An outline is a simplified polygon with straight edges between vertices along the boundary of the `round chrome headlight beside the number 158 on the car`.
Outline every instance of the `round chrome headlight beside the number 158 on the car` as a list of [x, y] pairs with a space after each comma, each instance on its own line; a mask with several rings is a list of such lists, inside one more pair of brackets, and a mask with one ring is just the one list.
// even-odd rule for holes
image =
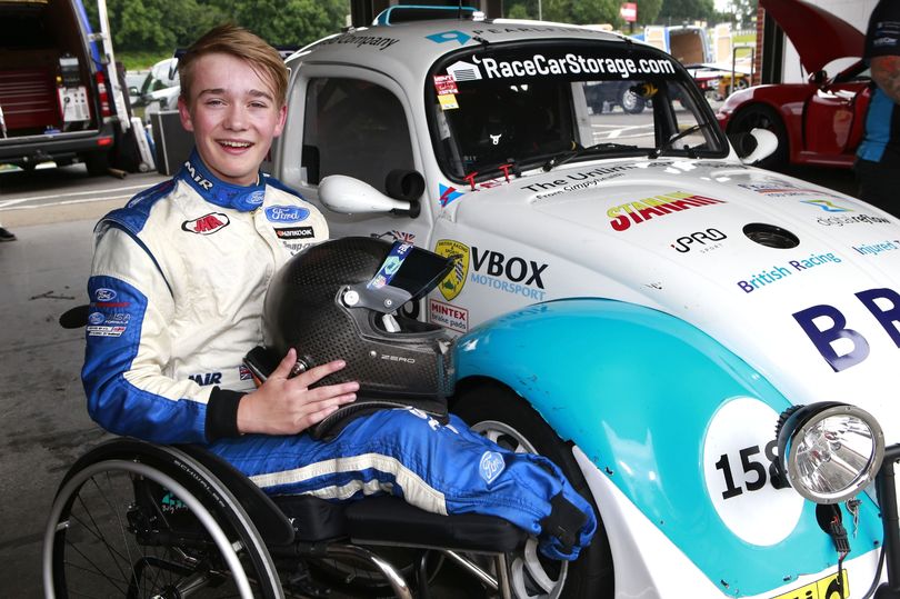
[[884, 436], [876, 419], [837, 401], [789, 408], [776, 435], [781, 473], [816, 503], [839, 503], [857, 495], [884, 457]]

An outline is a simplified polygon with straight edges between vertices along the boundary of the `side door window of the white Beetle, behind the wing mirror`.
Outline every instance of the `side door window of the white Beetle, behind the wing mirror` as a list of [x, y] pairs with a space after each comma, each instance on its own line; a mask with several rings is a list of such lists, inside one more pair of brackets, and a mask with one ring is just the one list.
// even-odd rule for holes
[[386, 191], [394, 169], [414, 168], [403, 104], [390, 91], [359, 79], [312, 79], [307, 87], [301, 167], [318, 184], [346, 174]]

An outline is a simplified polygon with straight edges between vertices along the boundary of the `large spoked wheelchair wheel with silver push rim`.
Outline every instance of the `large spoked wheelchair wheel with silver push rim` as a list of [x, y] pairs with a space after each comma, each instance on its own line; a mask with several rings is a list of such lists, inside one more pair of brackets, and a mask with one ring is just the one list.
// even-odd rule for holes
[[282, 596], [259, 533], [218, 479], [174, 448], [116, 443], [79, 460], [57, 493], [48, 597]]

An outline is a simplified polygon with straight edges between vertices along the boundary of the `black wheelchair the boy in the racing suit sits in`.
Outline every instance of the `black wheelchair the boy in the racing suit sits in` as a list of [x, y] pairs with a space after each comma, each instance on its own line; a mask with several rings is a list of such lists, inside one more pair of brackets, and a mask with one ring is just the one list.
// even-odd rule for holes
[[117, 438], [64, 476], [42, 571], [47, 597], [427, 599], [449, 568], [453, 597], [511, 599], [546, 596], [554, 568], [564, 576], [536, 549], [501, 518], [390, 496], [269, 497], [200, 446]]

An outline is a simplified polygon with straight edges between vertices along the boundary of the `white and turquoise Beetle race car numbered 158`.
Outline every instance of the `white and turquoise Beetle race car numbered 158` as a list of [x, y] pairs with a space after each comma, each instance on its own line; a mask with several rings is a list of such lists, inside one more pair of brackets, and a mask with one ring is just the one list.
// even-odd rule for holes
[[[662, 51], [399, 9], [288, 59], [272, 170], [333, 237], [458, 257], [403, 308], [459, 333], [451, 409], [602, 521], [572, 563], [526, 551], [517, 596], [897, 589], [898, 222], [749, 166], [774, 136], [729, 143]], [[590, 110], [622, 81], [646, 110]]]

